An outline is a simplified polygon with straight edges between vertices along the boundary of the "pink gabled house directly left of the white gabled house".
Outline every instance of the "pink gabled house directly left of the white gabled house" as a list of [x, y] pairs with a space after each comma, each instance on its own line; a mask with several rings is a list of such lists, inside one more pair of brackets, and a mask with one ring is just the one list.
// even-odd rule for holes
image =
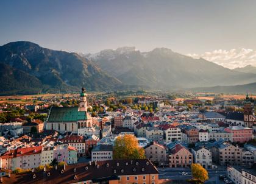
[[193, 163], [193, 155], [180, 143], [168, 144], [169, 167], [170, 168], [190, 168]]

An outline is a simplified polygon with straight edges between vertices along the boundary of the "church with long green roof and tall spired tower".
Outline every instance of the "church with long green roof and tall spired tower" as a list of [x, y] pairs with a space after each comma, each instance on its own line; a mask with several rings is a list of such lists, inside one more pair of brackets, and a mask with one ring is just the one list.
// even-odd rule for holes
[[60, 133], [77, 133], [78, 129], [92, 126], [91, 116], [87, 112], [84, 85], [80, 93], [79, 107], [52, 107], [46, 121], [46, 130], [56, 130]]

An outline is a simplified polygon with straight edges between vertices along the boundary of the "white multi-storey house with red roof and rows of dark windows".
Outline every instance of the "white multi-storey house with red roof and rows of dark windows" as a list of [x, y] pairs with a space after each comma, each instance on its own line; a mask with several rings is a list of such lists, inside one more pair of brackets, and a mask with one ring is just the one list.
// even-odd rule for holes
[[172, 141], [182, 140], [182, 132], [179, 127], [172, 126], [171, 124], [160, 124], [158, 128], [163, 130], [165, 145]]

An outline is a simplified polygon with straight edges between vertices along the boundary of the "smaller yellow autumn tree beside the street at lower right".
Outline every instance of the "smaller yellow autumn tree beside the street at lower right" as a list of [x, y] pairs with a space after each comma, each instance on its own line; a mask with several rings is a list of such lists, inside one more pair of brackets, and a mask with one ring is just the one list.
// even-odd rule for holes
[[197, 163], [191, 165], [191, 173], [196, 183], [204, 183], [209, 179], [206, 169]]

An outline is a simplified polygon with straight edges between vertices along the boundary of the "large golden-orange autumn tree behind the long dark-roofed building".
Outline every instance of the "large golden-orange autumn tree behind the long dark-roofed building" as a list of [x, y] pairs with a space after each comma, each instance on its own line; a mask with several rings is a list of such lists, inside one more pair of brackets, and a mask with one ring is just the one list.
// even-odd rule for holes
[[138, 141], [134, 135], [126, 134], [118, 136], [115, 140], [113, 150], [114, 159], [142, 159], [145, 157], [145, 151], [139, 147]]

